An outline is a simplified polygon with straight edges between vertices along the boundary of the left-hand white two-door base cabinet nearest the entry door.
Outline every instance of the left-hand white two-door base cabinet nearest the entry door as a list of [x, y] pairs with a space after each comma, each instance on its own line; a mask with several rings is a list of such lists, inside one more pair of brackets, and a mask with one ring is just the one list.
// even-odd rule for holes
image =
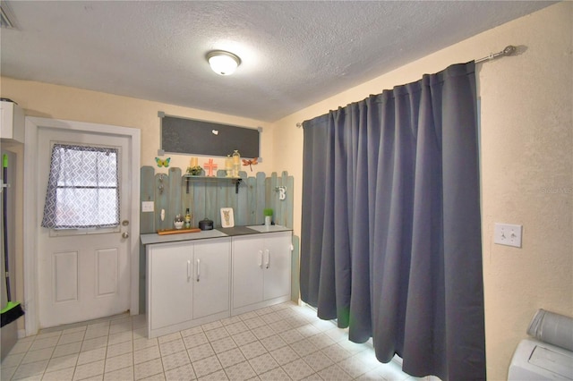
[[230, 242], [147, 246], [148, 337], [229, 316]]

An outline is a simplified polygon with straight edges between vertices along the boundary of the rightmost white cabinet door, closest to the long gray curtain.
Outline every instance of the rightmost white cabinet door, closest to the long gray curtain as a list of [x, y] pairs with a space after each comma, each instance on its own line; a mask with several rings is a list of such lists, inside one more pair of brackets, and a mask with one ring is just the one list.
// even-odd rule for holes
[[264, 239], [265, 301], [290, 294], [291, 233], [266, 234]]

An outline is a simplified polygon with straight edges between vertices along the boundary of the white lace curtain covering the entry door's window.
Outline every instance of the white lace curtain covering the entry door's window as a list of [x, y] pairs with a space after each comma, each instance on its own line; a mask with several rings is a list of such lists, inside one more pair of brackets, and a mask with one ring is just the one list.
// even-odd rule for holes
[[119, 225], [118, 149], [55, 144], [42, 226], [51, 229]]

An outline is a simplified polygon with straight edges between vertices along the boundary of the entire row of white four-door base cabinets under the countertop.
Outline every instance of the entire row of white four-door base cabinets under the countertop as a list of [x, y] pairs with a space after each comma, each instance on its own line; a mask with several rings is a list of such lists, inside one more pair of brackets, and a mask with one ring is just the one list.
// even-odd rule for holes
[[148, 337], [290, 300], [292, 232], [146, 244]]

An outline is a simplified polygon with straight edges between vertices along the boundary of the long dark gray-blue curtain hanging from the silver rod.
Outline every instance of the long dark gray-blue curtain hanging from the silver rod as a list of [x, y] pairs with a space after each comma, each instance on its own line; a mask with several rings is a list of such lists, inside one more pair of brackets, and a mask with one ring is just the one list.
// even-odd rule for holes
[[475, 63], [304, 126], [301, 295], [410, 375], [485, 378]]

